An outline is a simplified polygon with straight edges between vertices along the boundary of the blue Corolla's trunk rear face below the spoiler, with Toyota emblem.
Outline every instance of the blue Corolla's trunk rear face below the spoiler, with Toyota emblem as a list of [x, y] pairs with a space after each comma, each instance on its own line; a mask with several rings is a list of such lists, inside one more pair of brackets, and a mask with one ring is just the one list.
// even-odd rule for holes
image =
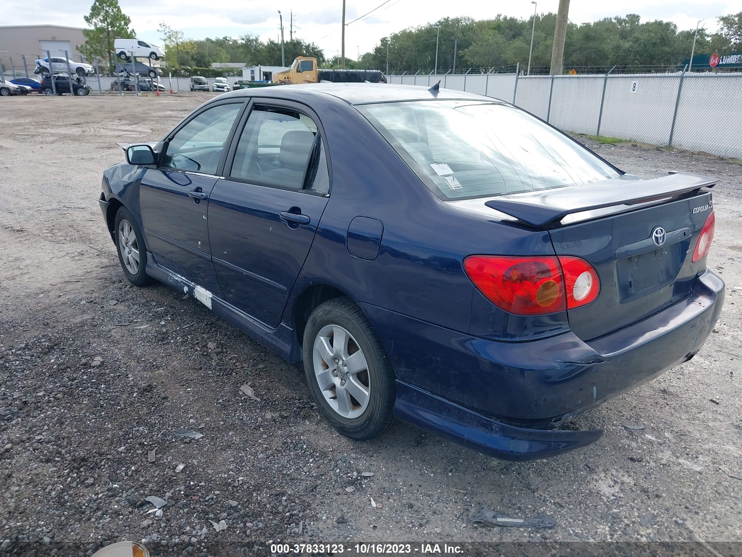
[[600, 278], [597, 299], [568, 310], [574, 333], [594, 339], [687, 296], [705, 265], [692, 254], [711, 211], [704, 193], [551, 230], [558, 255], [585, 259]]

